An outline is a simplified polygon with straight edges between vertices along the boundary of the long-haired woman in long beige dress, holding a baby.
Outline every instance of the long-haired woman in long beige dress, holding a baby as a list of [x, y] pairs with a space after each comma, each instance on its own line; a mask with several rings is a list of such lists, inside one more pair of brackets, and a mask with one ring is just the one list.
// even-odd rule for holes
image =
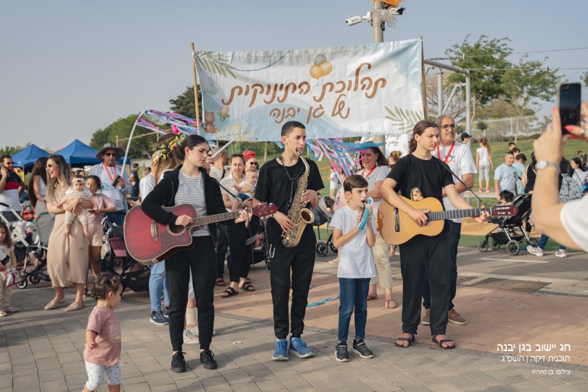
[[71, 170], [61, 155], [51, 155], [47, 159], [47, 195], [45, 201], [49, 213], [55, 214], [55, 225], [49, 236], [47, 250], [47, 272], [51, 277], [51, 284], [55, 289], [55, 297], [45, 306], [51, 310], [65, 302], [64, 287], [75, 286], [76, 296], [65, 311], [79, 310], [85, 307], [83, 303], [83, 286], [88, 272], [89, 240], [83, 234], [82, 224], [74, 219], [65, 232], [65, 211], [81, 212], [81, 208], [90, 209], [93, 204], [89, 200], [69, 201], [61, 208], [57, 207], [58, 200], [63, 200], [65, 191], [71, 186]]

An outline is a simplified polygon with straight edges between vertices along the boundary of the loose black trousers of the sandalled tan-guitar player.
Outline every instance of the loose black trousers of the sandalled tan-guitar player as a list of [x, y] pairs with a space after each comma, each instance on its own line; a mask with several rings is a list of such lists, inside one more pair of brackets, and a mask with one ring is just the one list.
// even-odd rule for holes
[[445, 334], [449, 311], [449, 243], [450, 233], [444, 231], [436, 237], [419, 234], [400, 245], [403, 333], [416, 333], [419, 326], [426, 268], [431, 289], [431, 333]]

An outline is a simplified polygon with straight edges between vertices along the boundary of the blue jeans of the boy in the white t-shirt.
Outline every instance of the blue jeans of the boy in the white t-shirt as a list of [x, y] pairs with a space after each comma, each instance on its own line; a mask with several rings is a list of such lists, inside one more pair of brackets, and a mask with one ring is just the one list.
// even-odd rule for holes
[[368, 319], [369, 278], [339, 278], [339, 341], [347, 341], [349, 322], [355, 308], [355, 339], [365, 337], [366, 320]]

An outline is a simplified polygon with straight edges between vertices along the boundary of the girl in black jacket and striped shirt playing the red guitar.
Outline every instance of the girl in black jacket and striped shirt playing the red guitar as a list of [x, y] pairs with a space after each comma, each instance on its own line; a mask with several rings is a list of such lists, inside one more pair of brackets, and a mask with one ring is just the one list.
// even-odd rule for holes
[[[183, 165], [165, 173], [163, 179], [141, 203], [142, 211], [155, 222], [169, 225], [168, 227], [171, 230], [183, 229], [181, 226], [192, 227], [195, 216], [186, 213], [178, 216], [169, 209], [163, 209], [162, 206], [181, 207], [179, 205], [187, 203], [195, 208], [200, 218], [212, 214], [223, 214], [231, 217], [236, 215], [236, 213], [233, 215], [231, 215], [232, 213], [227, 213], [222, 195], [220, 195], [220, 187], [213, 182], [203, 167], [205, 166], [206, 158], [208, 158], [209, 150], [206, 139], [198, 135], [189, 135], [179, 148], [182, 149], [181, 155], [185, 155]], [[233, 211], [238, 207], [238, 203], [235, 202]], [[129, 253], [134, 257], [135, 255], [133, 255], [129, 243], [140, 242], [141, 237], [143, 237], [143, 242], [147, 240], [154, 243], [159, 236], [165, 234], [165, 229], [158, 232], [158, 226], [155, 226], [155, 224], [149, 225], [149, 223], [136, 225], [136, 227], [132, 228], [132, 221], [129, 220], [133, 216], [131, 212], [129, 212], [127, 220], [125, 220], [125, 239], [127, 247], [131, 251]], [[235, 223], [248, 222], [249, 220], [248, 213], [245, 210], [241, 210], [236, 216]], [[221, 219], [216, 219], [216, 221], [221, 222]], [[215, 222], [215, 220], [211, 219], [210, 222]], [[230, 224], [233, 221], [223, 220], [222, 222]], [[149, 233], [139, 233], [141, 227], [144, 226], [152, 227], [153, 239], [150, 238]], [[131, 236], [133, 232], [135, 236]], [[149, 247], [148, 242], [143, 244], [143, 250]], [[216, 263], [213, 261], [216, 260], [215, 242], [216, 225], [215, 223], [208, 223], [208, 225], [199, 226], [199, 229], [191, 233], [191, 241], [188, 246], [184, 246], [182, 250], [173, 254], [168, 252], [161, 254], [160, 256], [162, 257], [158, 257], [166, 260], [165, 273], [168, 279], [170, 297], [169, 336], [173, 350], [172, 371], [175, 372], [186, 371], [186, 362], [182, 352], [182, 333], [186, 304], [188, 302], [189, 272], [192, 272], [198, 307], [200, 360], [207, 369], [217, 367], [216, 361], [213, 359], [214, 354], [210, 350], [215, 319], [215, 307], [213, 305], [216, 277]], [[165, 244], [160, 244], [160, 246], [163, 247]], [[139, 257], [137, 260], [141, 259]]]

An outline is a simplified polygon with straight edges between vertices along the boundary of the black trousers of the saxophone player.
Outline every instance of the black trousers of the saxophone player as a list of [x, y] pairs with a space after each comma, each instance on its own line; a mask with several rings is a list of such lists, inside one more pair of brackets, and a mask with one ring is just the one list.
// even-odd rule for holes
[[[281, 242], [272, 244], [271, 250], [275, 250], [270, 270], [273, 331], [278, 339], [288, 337], [290, 284], [292, 285], [292, 307], [290, 308], [292, 328], [290, 331], [293, 334], [302, 334], [304, 330], [308, 290], [315, 267], [315, 246], [315, 238], [300, 241], [298, 246], [293, 248], [285, 247]], [[291, 282], [290, 268], [292, 269]]]

